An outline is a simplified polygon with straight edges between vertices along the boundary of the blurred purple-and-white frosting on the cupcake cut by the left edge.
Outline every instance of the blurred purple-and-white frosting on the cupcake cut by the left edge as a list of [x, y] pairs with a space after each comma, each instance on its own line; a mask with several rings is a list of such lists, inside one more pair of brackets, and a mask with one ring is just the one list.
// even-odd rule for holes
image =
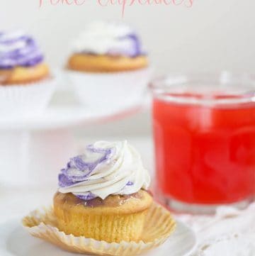
[[0, 69], [33, 67], [42, 60], [42, 52], [30, 35], [0, 32]]

